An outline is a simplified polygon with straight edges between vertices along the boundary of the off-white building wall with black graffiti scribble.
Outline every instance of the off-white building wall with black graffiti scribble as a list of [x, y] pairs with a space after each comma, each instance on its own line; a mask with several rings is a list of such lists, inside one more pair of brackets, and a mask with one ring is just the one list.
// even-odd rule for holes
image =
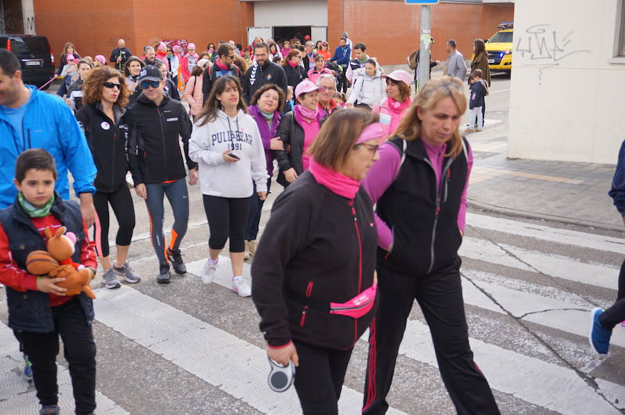
[[624, 3], [516, 3], [510, 158], [616, 162], [625, 139]]

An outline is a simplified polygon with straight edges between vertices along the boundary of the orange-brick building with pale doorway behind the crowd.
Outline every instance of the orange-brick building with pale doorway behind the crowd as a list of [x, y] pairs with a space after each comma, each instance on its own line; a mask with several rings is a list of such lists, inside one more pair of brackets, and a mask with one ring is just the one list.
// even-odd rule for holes
[[[249, 44], [256, 33], [276, 39], [308, 34], [334, 49], [347, 31], [383, 65], [398, 65], [418, 49], [421, 15], [420, 6], [403, 0], [28, 1], [34, 1], [37, 33], [49, 37], [55, 53], [73, 42], [79, 53], [91, 56], [108, 56], [120, 37], [141, 55], [143, 46], [162, 39], [194, 42], [202, 51], [217, 40]], [[468, 58], [476, 37], [490, 37], [497, 24], [512, 20], [512, 3], [450, 0], [431, 6], [433, 59], [447, 58], [444, 43], [451, 38]]]

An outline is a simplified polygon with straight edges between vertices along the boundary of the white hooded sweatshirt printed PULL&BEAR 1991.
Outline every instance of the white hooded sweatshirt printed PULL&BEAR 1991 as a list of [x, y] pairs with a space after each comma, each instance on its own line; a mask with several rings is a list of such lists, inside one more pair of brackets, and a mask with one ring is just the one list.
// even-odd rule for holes
[[[201, 122], [201, 121], [199, 121]], [[256, 121], [239, 110], [233, 118], [219, 110], [217, 118], [203, 126], [193, 126], [189, 157], [199, 164], [202, 194], [246, 198], [253, 192], [267, 192], [265, 149]], [[222, 153], [231, 149], [238, 162], [226, 162]]]

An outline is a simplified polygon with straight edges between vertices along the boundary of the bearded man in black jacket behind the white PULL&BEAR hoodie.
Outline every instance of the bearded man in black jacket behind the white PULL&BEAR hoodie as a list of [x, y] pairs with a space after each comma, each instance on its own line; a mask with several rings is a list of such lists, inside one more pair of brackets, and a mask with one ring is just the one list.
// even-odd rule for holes
[[243, 99], [249, 105], [249, 100], [266, 83], [274, 83], [281, 87], [287, 95], [287, 78], [284, 69], [269, 60], [269, 46], [260, 42], [254, 46], [255, 63], [247, 70], [243, 81]]

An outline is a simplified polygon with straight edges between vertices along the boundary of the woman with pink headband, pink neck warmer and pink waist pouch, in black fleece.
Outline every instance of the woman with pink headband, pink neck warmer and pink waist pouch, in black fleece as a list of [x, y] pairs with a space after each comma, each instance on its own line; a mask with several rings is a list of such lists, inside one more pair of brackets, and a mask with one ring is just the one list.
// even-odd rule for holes
[[328, 118], [310, 168], [276, 199], [251, 268], [267, 357], [297, 366], [304, 415], [338, 414], [353, 345], [376, 309], [376, 225], [360, 180], [378, 160], [377, 121], [357, 109]]

